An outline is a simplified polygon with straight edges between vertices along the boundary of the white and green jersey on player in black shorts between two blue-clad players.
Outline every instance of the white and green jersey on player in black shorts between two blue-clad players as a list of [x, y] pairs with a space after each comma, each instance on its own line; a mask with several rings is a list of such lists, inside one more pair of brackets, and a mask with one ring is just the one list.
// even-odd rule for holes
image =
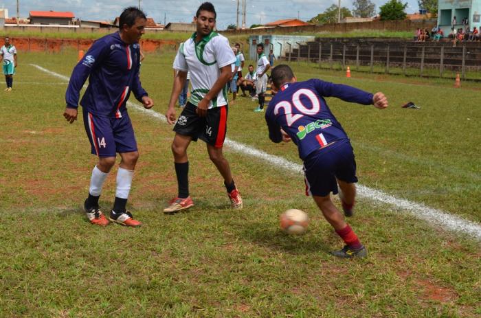
[[[179, 47], [174, 60], [174, 69], [190, 72], [190, 103], [197, 106], [205, 97], [221, 74], [221, 67], [236, 62], [236, 56], [230, 48], [225, 36], [210, 32], [199, 43], [195, 43], [197, 33]], [[219, 91], [216, 98], [212, 98], [209, 109], [227, 105], [227, 88]]]

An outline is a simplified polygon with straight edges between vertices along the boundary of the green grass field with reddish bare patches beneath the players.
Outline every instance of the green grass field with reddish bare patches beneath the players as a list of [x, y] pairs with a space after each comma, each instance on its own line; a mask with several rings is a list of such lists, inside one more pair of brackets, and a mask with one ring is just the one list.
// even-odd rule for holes
[[[165, 113], [172, 54], [148, 55], [142, 84]], [[93, 227], [82, 213], [96, 158], [82, 121], [63, 119], [76, 54], [19, 54], [14, 91], [0, 99], [0, 317], [480, 317], [481, 245], [419, 220], [402, 207], [359, 197], [349, 220], [368, 258], [328, 254], [342, 242], [299, 172], [225, 147], [245, 208], [234, 212], [202, 142], [192, 144], [186, 213], [161, 209], [177, 191], [172, 128], [130, 108], [139, 152], [128, 207], [144, 226]], [[317, 69], [312, 77], [383, 91], [390, 107], [328, 99], [350, 135], [361, 185], [480, 226], [479, 84]], [[133, 98], [131, 101], [135, 102]], [[402, 109], [412, 101], [420, 110]], [[300, 163], [295, 146], [272, 144], [255, 102], [230, 106], [227, 137]], [[100, 204], [115, 194], [114, 169]], [[296, 207], [306, 235], [278, 229]], [[421, 211], [420, 211], [421, 212]]]

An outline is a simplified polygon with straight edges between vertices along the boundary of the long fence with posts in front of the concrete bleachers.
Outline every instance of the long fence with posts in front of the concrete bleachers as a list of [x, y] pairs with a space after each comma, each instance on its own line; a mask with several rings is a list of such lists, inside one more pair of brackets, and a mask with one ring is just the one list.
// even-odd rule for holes
[[322, 68], [405, 76], [451, 77], [481, 80], [480, 43], [309, 43], [291, 49], [289, 61], [318, 63]]

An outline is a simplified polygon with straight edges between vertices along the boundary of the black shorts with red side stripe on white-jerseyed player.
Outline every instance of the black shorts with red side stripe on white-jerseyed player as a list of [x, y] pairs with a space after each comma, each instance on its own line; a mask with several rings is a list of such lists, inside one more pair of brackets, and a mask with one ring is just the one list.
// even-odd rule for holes
[[179, 135], [192, 137], [193, 141], [201, 139], [215, 148], [222, 148], [227, 131], [227, 105], [208, 109], [207, 116], [201, 118], [195, 112], [197, 106], [188, 102], [174, 131]]

